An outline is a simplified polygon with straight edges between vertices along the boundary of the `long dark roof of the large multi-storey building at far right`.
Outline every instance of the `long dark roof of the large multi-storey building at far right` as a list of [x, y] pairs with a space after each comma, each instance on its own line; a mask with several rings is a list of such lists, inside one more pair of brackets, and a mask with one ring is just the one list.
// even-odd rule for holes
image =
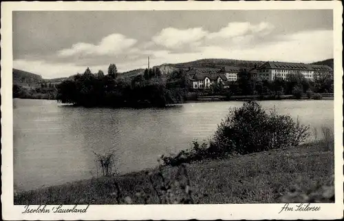
[[309, 65], [305, 63], [279, 62], [267, 61], [266, 63], [257, 67], [257, 69], [292, 69], [292, 70], [332, 70], [326, 65]]

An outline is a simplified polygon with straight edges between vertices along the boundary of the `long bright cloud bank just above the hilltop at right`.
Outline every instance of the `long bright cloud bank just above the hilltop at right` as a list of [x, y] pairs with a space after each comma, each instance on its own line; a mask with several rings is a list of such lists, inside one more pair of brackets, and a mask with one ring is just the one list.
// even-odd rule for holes
[[[251, 61], [290, 61], [311, 63], [333, 58], [332, 30], [312, 30], [277, 36], [273, 43], [244, 45], [236, 48], [216, 45], [201, 48], [208, 58], [241, 59]], [[216, 55], [216, 56], [214, 56]]]

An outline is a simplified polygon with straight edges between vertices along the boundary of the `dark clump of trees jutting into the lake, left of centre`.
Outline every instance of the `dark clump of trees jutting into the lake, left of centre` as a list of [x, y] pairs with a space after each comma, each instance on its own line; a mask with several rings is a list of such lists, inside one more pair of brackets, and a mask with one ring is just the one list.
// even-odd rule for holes
[[[166, 81], [158, 69], [146, 69], [133, 78], [118, 78], [115, 64], [109, 65], [107, 75], [87, 70], [58, 85], [57, 99], [85, 107], [164, 107], [181, 103], [186, 96], [182, 71], [173, 73]], [[184, 79], [185, 76], [184, 76]]]

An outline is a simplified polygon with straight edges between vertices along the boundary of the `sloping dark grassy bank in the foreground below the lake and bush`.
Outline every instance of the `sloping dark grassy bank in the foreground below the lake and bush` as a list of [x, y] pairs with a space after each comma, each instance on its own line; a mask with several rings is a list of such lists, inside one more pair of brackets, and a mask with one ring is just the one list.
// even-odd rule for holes
[[[321, 142], [197, 162], [186, 165], [186, 169], [192, 202], [196, 204], [334, 200], [334, 152], [324, 149]], [[176, 167], [162, 169], [166, 179], [173, 178], [176, 171]], [[24, 191], [14, 196], [14, 204], [158, 204], [162, 179], [157, 174], [158, 169], [153, 169], [148, 175], [140, 171]], [[175, 196], [183, 194], [178, 189], [173, 192]]]

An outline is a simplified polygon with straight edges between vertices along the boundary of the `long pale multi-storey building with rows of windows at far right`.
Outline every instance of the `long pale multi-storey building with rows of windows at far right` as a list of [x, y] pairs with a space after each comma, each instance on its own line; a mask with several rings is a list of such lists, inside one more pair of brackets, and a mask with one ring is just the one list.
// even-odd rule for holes
[[310, 81], [317, 78], [333, 78], [333, 70], [326, 65], [276, 61], [268, 61], [257, 67], [257, 78], [262, 80], [274, 81], [276, 78], [282, 78], [291, 81], [298, 77], [304, 77]]

